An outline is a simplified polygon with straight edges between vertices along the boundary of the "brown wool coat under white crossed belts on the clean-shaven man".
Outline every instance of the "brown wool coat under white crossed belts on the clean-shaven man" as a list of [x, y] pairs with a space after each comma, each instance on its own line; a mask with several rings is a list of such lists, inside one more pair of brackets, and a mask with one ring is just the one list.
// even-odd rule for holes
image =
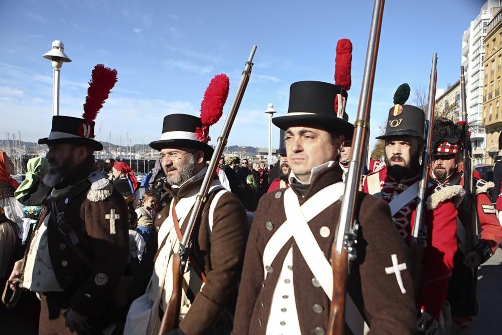
[[[305, 197], [302, 198], [297, 193], [300, 205], [322, 188], [341, 181], [341, 173], [338, 164], [319, 172], [313, 178]], [[316, 327], [326, 329], [330, 300], [321, 287], [313, 286], [314, 276], [294, 239], [286, 243], [271, 264], [273, 269], [278, 270], [269, 273], [264, 281], [262, 260], [265, 246], [286, 220], [284, 191], [285, 189], [273, 191], [260, 199], [247, 242], [234, 318], [235, 335], [266, 333], [274, 289], [291, 244], [293, 283], [301, 332], [313, 333]], [[402, 294], [395, 275], [385, 272], [386, 267], [392, 266], [392, 254], [397, 255], [400, 264], [406, 262], [401, 238], [391, 222], [389, 206], [386, 202], [361, 192], [358, 193], [358, 204], [357, 218], [361, 227], [357, 238], [357, 260], [352, 264], [348, 279], [350, 296], [369, 324], [371, 334], [411, 334], [415, 330], [416, 310], [410, 273], [407, 270], [401, 272], [407, 290], [406, 294]], [[309, 222], [309, 227], [326, 258], [329, 257], [333, 242], [340, 205], [341, 201], [336, 201]], [[272, 231], [266, 228], [267, 221], [272, 222]], [[320, 236], [319, 230], [322, 226], [330, 228], [328, 238]], [[315, 313], [312, 310], [314, 304], [321, 305], [323, 311]], [[351, 332], [346, 330], [345, 333]]]

